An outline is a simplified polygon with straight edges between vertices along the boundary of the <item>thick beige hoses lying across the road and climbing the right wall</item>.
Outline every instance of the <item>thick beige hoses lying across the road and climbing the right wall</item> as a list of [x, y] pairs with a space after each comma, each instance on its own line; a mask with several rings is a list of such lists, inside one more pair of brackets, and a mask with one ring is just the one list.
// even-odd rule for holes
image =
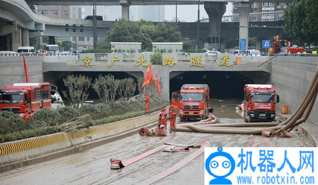
[[[318, 68], [316, 69], [313, 81], [309, 86], [307, 93], [292, 113], [292, 115], [282, 123], [236, 123], [236, 124], [215, 124], [212, 122], [195, 122], [192, 124], [179, 124], [176, 131], [181, 132], [203, 132], [203, 133], [234, 133], [234, 134], [262, 134], [271, 137], [276, 134], [279, 137], [290, 137], [289, 132], [296, 126], [305, 122], [314, 106], [318, 93]], [[306, 113], [305, 113], [306, 112]], [[305, 113], [305, 114], [304, 114]], [[302, 117], [303, 116], [303, 117]], [[204, 120], [205, 121], [205, 120]], [[208, 124], [204, 124], [208, 123]], [[204, 125], [204, 126], [202, 126]], [[246, 128], [246, 127], [264, 127], [264, 128]]]

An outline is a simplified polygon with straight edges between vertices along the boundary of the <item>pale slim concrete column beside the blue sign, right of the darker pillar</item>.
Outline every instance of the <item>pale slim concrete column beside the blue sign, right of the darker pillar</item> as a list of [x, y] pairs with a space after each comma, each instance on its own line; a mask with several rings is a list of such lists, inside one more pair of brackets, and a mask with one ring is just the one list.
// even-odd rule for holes
[[246, 39], [246, 50], [248, 50], [248, 16], [250, 3], [239, 2], [237, 4], [239, 14], [239, 39]]

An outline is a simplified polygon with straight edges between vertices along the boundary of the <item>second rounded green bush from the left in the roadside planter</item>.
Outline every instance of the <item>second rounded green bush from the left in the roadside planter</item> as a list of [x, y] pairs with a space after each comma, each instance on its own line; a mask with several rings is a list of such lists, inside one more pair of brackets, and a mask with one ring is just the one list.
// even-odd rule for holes
[[60, 114], [57, 110], [42, 108], [37, 110], [30, 118], [32, 128], [55, 126], [59, 124]]

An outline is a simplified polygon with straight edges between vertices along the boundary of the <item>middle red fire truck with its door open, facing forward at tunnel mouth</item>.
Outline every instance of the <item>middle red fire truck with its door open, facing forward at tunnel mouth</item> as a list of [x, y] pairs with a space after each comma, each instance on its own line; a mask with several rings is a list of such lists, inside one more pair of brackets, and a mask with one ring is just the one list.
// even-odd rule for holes
[[172, 93], [171, 105], [179, 110], [180, 121], [205, 119], [213, 109], [209, 108], [210, 89], [207, 84], [184, 84], [180, 91]]

